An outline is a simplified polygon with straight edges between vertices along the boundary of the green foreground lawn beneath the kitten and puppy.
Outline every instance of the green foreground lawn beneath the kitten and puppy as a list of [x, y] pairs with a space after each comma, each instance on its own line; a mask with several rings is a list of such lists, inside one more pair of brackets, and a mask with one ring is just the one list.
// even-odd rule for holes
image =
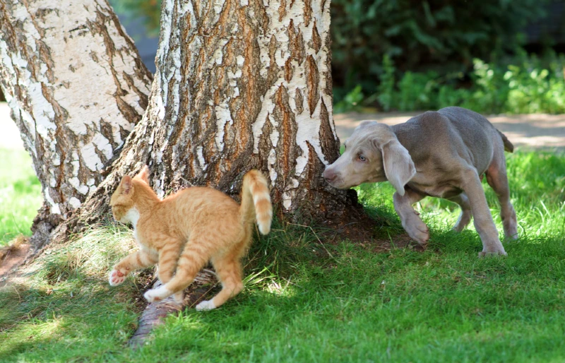
[[[475, 230], [452, 232], [458, 209], [434, 198], [416, 206], [431, 230], [423, 252], [321, 244], [319, 229], [275, 225], [254, 242], [242, 294], [170, 316], [131, 350], [146, 278], [109, 287], [110, 266], [133, 248], [109, 225], [42, 256], [26, 285], [0, 290], [0, 361], [563, 362], [565, 155], [507, 156], [521, 239], [504, 243], [506, 258], [477, 258]], [[375, 236], [395, 242], [391, 186], [359, 194], [386, 218]]]

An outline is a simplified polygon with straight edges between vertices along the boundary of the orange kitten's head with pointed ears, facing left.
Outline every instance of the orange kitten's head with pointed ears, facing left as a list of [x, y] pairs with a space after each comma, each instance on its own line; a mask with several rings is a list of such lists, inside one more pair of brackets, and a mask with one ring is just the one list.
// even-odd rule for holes
[[141, 187], [139, 183], [149, 185], [149, 168], [147, 165], [133, 178], [129, 177], [129, 175], [124, 175], [116, 191], [112, 194], [110, 207], [112, 207], [114, 219], [118, 222], [135, 222], [134, 219], [136, 219], [136, 215], [137, 218], [139, 218], [135, 197], [136, 187]]

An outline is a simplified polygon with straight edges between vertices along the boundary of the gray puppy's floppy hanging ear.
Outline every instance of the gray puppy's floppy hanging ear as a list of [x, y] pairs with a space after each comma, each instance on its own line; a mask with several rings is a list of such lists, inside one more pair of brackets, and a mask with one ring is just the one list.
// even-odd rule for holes
[[398, 138], [393, 136], [381, 145], [383, 154], [383, 168], [388, 182], [401, 196], [404, 195], [404, 186], [416, 174], [416, 168], [408, 150], [400, 144]]

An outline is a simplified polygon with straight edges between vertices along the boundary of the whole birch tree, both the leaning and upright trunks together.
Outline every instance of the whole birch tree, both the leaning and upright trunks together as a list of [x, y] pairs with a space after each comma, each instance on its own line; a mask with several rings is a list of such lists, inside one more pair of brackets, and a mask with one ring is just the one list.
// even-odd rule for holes
[[99, 220], [121, 176], [144, 164], [161, 196], [188, 184], [235, 196], [258, 168], [283, 213], [335, 220], [355, 203], [321, 177], [339, 146], [329, 1], [163, 1], [149, 99], [150, 76], [105, 1], [6, 1], [2, 85], [49, 218], [66, 218], [88, 194], [56, 239]]

